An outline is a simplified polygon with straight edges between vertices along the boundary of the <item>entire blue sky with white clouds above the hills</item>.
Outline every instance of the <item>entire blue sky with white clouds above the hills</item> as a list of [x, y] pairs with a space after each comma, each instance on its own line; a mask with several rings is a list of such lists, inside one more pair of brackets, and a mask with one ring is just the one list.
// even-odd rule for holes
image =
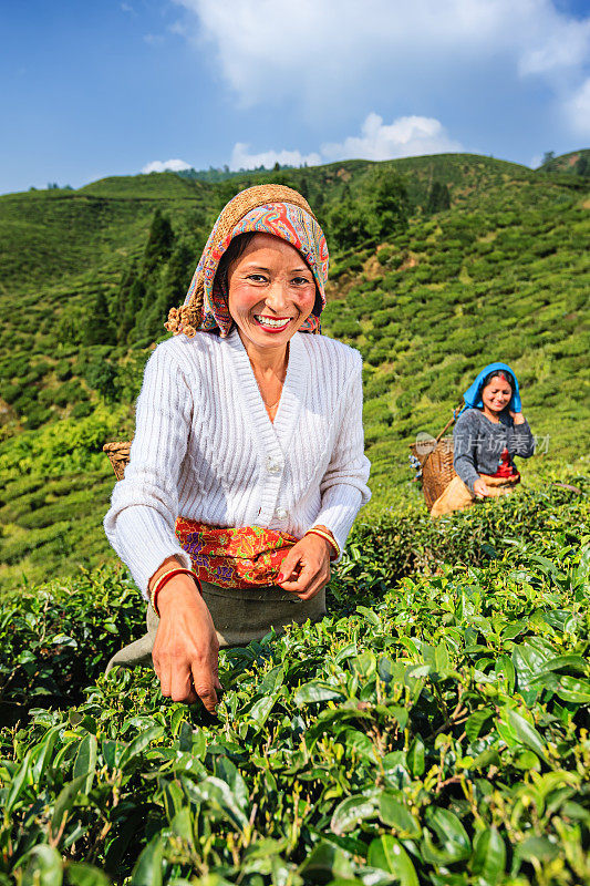
[[1, 0], [0, 40], [0, 193], [590, 144], [590, 0]]

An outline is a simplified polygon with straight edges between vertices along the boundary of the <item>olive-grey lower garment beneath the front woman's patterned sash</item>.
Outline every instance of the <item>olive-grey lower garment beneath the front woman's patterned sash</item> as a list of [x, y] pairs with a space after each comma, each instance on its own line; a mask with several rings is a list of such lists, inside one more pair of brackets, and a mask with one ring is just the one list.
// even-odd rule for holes
[[[240, 589], [220, 588], [203, 581], [203, 599], [211, 614], [219, 647], [248, 646], [251, 640], [261, 640], [271, 628], [280, 633], [287, 625], [302, 625], [308, 618], [318, 621], [325, 615], [325, 588], [311, 600], [300, 600], [294, 594], [271, 586]], [[116, 652], [106, 673], [115, 666], [134, 668], [152, 664], [152, 650], [156, 639], [159, 618], [147, 606], [147, 632]]]

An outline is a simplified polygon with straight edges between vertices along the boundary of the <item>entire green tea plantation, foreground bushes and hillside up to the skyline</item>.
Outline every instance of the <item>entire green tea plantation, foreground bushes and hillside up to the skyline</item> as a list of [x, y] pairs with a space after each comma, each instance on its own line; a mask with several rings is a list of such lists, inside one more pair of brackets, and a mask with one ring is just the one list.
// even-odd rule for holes
[[[0, 886], [590, 883], [589, 162], [0, 196]], [[104, 676], [145, 604], [102, 446], [217, 214], [270, 179], [327, 230], [373, 498], [322, 621], [221, 652], [214, 718], [151, 669]], [[517, 494], [433, 523], [408, 444], [496, 360], [537, 453]]]

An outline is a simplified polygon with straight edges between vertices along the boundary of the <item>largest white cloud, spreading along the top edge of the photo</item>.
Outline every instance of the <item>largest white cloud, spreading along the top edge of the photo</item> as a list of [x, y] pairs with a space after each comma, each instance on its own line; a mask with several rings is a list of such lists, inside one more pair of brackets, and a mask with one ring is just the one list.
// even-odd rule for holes
[[400, 97], [433, 76], [489, 65], [553, 84], [573, 73], [579, 82], [590, 44], [590, 19], [568, 16], [557, 0], [176, 2], [193, 20], [193, 39], [214, 44], [221, 76], [245, 105], [289, 97], [325, 111], [369, 83]]

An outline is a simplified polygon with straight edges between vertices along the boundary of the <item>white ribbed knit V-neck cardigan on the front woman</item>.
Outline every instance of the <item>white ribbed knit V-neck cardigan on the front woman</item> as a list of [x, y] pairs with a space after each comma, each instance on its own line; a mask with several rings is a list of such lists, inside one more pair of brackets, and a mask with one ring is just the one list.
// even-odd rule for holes
[[275, 422], [238, 332], [197, 332], [156, 348], [137, 400], [125, 477], [104, 528], [139, 589], [173, 555], [177, 516], [210, 526], [263, 526], [301, 538], [314, 525], [341, 550], [369, 501], [361, 356], [297, 332]]

